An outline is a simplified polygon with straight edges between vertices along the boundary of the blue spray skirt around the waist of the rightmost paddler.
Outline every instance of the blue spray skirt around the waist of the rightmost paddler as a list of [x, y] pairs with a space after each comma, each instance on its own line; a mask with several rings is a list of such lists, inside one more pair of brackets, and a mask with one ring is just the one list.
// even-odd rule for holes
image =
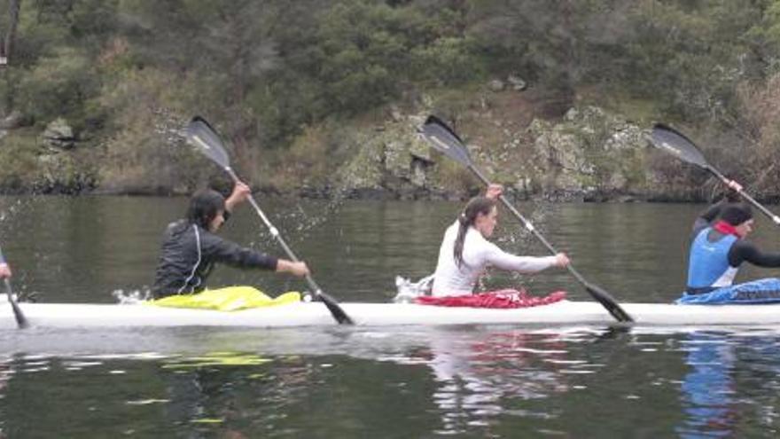
[[780, 302], [780, 278], [765, 278], [732, 286], [724, 286], [710, 293], [687, 294], [677, 299], [679, 305], [750, 305]]

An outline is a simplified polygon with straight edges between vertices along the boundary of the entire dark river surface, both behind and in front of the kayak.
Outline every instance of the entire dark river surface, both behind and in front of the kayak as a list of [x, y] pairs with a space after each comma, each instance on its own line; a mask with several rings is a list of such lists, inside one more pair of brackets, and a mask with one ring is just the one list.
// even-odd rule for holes
[[[40, 302], [116, 302], [152, 282], [185, 199], [0, 199], [13, 285]], [[344, 302], [387, 302], [433, 271], [460, 203], [261, 200]], [[624, 302], [671, 302], [703, 206], [521, 204], [577, 270]], [[495, 241], [545, 255], [502, 212]], [[222, 234], [281, 255], [248, 207]], [[760, 220], [754, 235], [780, 247]], [[743, 270], [740, 279], [776, 276]], [[270, 294], [299, 279], [221, 267], [209, 285]], [[491, 273], [486, 288], [565, 289], [566, 271]], [[7, 306], [0, 303], [2, 306]], [[776, 437], [780, 327], [453, 326], [0, 331], [0, 438]]]

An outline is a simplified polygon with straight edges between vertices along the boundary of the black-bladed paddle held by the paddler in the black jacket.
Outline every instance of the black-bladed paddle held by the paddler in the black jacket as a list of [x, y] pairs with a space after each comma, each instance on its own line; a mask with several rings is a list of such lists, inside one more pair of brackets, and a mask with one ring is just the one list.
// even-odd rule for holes
[[[232, 168], [230, 168], [230, 158], [228, 157], [228, 153], [225, 151], [225, 148], [222, 144], [222, 139], [216, 134], [216, 131], [211, 127], [211, 125], [208, 124], [208, 122], [206, 122], [205, 119], [200, 116], [195, 116], [192, 118], [192, 121], [186, 129], [186, 137], [191, 145], [194, 145], [198, 148], [200, 153], [203, 153], [209, 159], [211, 159], [211, 161], [214, 161], [214, 163], [224, 169], [234, 182], [238, 182], [238, 176], [236, 176], [236, 173]], [[292, 260], [292, 262], [299, 262], [298, 258], [292, 253], [292, 249], [287, 246], [285, 239], [282, 239], [282, 235], [279, 233], [278, 229], [274, 227], [274, 225], [269, 221], [268, 217], [265, 216], [265, 214], [262, 212], [260, 206], [257, 204], [257, 201], [254, 200], [252, 194], [249, 195], [249, 203], [254, 208], [254, 211], [257, 212], [257, 215], [261, 217], [262, 222], [265, 223], [266, 227], [268, 227], [271, 235], [273, 235], [274, 238], [277, 239], [279, 245], [284, 248], [285, 253]], [[306, 275], [306, 281], [308, 282], [308, 286], [315, 294], [315, 297], [324, 302], [325, 306], [328, 307], [328, 310], [331, 311], [333, 318], [335, 318], [339, 324], [354, 324], [352, 319], [347, 316], [347, 313], [341, 309], [339, 303], [336, 302], [336, 300], [333, 299], [330, 295], [325, 294], [323, 290], [316, 285], [314, 279], [311, 278], [311, 276], [308, 274]]]

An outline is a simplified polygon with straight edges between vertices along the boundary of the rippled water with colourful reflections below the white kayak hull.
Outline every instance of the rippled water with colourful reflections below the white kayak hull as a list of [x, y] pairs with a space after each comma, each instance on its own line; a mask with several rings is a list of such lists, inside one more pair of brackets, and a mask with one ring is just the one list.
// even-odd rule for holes
[[594, 437], [655, 419], [641, 435], [768, 436], [780, 407], [775, 330], [189, 328], [63, 344], [74, 335], [32, 333], [49, 354], [2, 356], [5, 435]]

